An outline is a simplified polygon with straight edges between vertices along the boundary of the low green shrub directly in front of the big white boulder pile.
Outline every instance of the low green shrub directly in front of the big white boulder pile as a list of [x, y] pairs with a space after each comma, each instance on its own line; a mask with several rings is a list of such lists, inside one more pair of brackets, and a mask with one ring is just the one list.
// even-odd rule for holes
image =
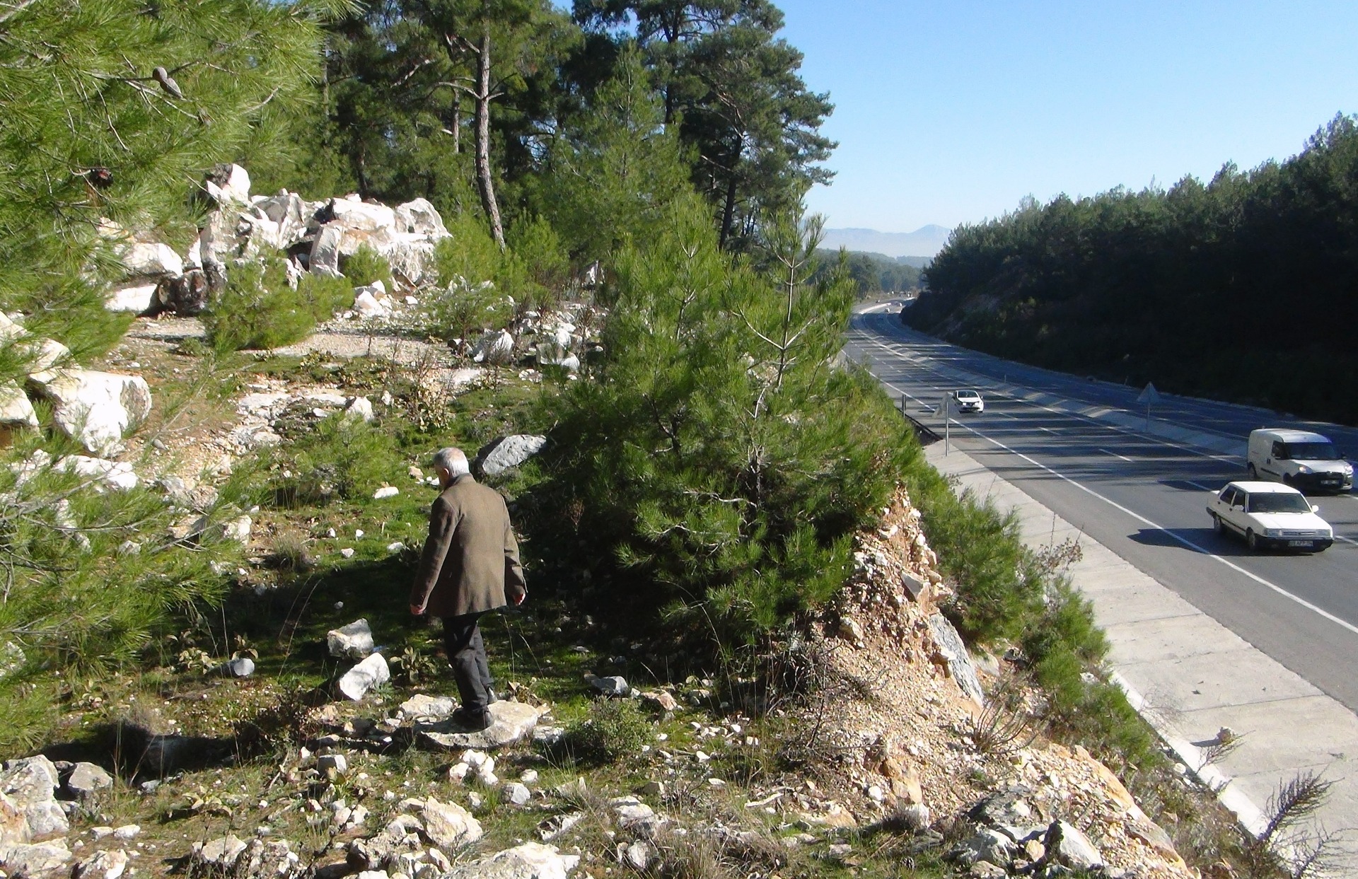
[[306, 338], [316, 321], [352, 303], [346, 279], [304, 274], [292, 289], [287, 265], [272, 257], [232, 266], [225, 289], [204, 311], [202, 325], [217, 352], [278, 348]]

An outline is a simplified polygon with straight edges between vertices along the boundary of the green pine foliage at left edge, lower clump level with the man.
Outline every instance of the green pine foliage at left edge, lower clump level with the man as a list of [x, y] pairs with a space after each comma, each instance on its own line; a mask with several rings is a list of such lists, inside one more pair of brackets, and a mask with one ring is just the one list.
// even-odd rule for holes
[[[0, 753], [50, 731], [62, 683], [136, 660], [178, 614], [216, 603], [227, 584], [215, 565], [242, 560], [240, 545], [210, 526], [197, 538], [167, 537], [183, 514], [145, 486], [100, 492], [31, 466], [18, 478], [37, 443], [26, 437], [0, 459], [0, 667], [14, 666], [0, 672]], [[220, 507], [209, 522], [232, 515]]]

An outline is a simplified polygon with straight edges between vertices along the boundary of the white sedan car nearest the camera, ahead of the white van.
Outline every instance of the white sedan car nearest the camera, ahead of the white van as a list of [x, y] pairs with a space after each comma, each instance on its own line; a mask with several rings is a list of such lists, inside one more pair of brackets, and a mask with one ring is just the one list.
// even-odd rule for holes
[[1335, 531], [1319, 511], [1305, 495], [1277, 482], [1228, 482], [1207, 504], [1217, 534], [1238, 534], [1253, 550], [1329, 549]]

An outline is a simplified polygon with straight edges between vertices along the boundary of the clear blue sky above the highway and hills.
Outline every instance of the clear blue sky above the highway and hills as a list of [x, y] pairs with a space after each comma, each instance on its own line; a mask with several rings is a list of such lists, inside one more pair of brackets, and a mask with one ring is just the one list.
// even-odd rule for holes
[[1032, 194], [1210, 179], [1358, 110], [1358, 3], [775, 0], [828, 91], [831, 227], [907, 232]]

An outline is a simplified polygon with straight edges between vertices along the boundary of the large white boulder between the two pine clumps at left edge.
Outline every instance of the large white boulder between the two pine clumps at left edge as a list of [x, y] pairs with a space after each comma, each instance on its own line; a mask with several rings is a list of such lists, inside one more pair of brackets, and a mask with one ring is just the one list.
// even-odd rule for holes
[[62, 370], [42, 394], [53, 402], [53, 424], [100, 456], [118, 450], [124, 433], [151, 414], [151, 387], [140, 375]]

